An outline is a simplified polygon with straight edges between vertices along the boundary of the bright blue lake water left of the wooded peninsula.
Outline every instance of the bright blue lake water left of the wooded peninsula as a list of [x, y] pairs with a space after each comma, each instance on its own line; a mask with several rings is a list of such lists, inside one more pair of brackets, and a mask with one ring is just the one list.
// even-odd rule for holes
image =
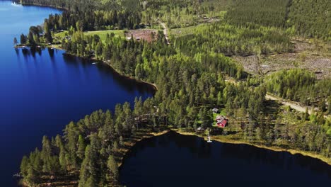
[[50, 13], [60, 11], [0, 1], [0, 186], [17, 186], [12, 175], [43, 135], [62, 133], [71, 120], [100, 108], [153, 94], [102, 64], [64, 57], [62, 50], [14, 50], [13, 38]]

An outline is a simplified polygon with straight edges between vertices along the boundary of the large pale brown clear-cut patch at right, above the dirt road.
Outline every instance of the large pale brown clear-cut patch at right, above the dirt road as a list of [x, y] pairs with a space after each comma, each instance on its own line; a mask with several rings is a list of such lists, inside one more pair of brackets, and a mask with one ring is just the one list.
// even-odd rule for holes
[[256, 55], [233, 58], [251, 74], [269, 74], [281, 69], [303, 68], [314, 72], [318, 79], [331, 78], [330, 43], [295, 39], [294, 44], [293, 53], [262, 56], [260, 60]]

